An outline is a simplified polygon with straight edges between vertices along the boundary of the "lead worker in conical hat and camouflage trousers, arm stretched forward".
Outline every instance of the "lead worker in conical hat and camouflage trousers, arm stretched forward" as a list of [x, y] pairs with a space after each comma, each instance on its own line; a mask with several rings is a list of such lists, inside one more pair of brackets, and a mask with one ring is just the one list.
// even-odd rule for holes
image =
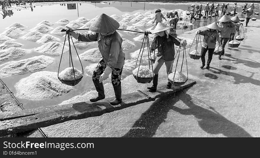
[[98, 48], [102, 55], [102, 60], [100, 60], [92, 75], [92, 81], [98, 92], [98, 96], [91, 98], [91, 102], [96, 102], [105, 98], [103, 81], [108, 79], [111, 72], [111, 81], [116, 99], [111, 101], [110, 104], [117, 105], [122, 102], [121, 74], [125, 63], [125, 53], [121, 47], [122, 38], [116, 31], [119, 26], [120, 24], [115, 19], [106, 14], [101, 14], [90, 25], [89, 29], [92, 31], [91, 33], [80, 34], [69, 31], [69, 33], [79, 41], [98, 41]]

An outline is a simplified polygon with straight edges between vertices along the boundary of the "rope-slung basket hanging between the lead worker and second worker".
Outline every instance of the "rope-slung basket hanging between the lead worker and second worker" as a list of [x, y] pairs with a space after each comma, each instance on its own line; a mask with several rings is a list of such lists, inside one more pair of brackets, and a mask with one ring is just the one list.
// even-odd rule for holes
[[[138, 70], [137, 70], [137, 75], [133, 74], [134, 78], [137, 80], [137, 83], [150, 83], [152, 81], [152, 78], [153, 78], [153, 75], [154, 75], [153, 66], [152, 66], [152, 60], [151, 60], [152, 59], [152, 55], [151, 55], [151, 52], [150, 52], [150, 43], [149, 43], [148, 34], [149, 34], [148, 32], [144, 32], [144, 39], [143, 39], [143, 42], [142, 42], [142, 45], [141, 45], [141, 49], [140, 49], [139, 55], [137, 57], [136, 64], [135, 64], [135, 69], [136, 69], [137, 68], [138, 59], [139, 59], [139, 56], [141, 54], [140, 62], [139, 62]], [[150, 78], [142, 78], [142, 77], [138, 76], [140, 65], [141, 65], [141, 61], [142, 61], [142, 56], [143, 56], [143, 53], [144, 53], [145, 42], [147, 43], [149, 69], [150, 69], [150, 66], [152, 67], [152, 77], [150, 77]], [[142, 53], [141, 53], [141, 51], [142, 51]], [[150, 65], [150, 62], [151, 62], [151, 65]]]

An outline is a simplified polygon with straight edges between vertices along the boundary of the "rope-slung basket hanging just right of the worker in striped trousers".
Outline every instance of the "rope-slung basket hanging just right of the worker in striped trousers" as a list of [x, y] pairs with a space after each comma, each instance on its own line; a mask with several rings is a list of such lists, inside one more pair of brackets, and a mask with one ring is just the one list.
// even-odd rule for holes
[[[175, 85], [175, 86], [181, 86], [181, 85], [185, 84], [185, 83], [188, 81], [188, 65], [187, 65], [187, 57], [186, 57], [186, 48], [184, 47], [184, 48], [183, 48], [183, 57], [182, 57], [181, 71], [180, 71], [180, 72], [182, 72], [183, 62], [184, 62], [184, 54], [185, 54], [187, 78], [186, 78], [186, 80], [185, 80], [184, 82], [174, 82], [175, 77], [176, 77], [177, 66], [178, 66], [178, 63], [179, 63], [180, 52], [181, 52], [181, 46], [179, 46], [178, 51], [177, 51], [177, 53], [176, 53], [176, 55], [175, 55], [175, 57], [174, 57], [173, 63], [172, 63], [172, 66], [173, 66], [174, 61], [175, 61], [175, 59], [176, 59], [176, 56], [178, 55], [178, 58], [177, 58], [177, 61], [176, 61], [176, 67], [175, 67], [175, 70], [174, 70], [173, 80], [170, 80], [170, 79], [168, 78], [168, 81], [169, 81], [172, 85]], [[169, 76], [170, 74], [171, 74], [171, 73], [170, 73], [170, 71], [169, 71], [168, 76]]]

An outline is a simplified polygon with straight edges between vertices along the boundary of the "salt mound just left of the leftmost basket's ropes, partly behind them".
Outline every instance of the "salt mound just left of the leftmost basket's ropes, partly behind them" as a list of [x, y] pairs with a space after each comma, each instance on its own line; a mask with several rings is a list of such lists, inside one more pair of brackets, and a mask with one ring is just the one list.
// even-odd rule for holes
[[[58, 55], [61, 55], [62, 48], [63, 48], [63, 44], [61, 44], [59, 42], [48, 42], [38, 48], [35, 48], [34, 50], [35, 50], [35, 52], [58, 56]], [[69, 47], [67, 47], [65, 45], [63, 53], [66, 53], [66, 52], [69, 52]]]

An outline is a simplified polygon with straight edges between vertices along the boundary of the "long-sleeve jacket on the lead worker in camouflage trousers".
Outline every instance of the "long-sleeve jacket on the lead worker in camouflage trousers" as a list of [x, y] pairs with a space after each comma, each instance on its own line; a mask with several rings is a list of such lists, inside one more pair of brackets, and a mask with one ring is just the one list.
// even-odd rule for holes
[[118, 32], [103, 36], [100, 33], [79, 34], [79, 41], [94, 42], [98, 41], [99, 51], [105, 64], [113, 68], [122, 68], [125, 63], [125, 53], [123, 52], [122, 38]]

